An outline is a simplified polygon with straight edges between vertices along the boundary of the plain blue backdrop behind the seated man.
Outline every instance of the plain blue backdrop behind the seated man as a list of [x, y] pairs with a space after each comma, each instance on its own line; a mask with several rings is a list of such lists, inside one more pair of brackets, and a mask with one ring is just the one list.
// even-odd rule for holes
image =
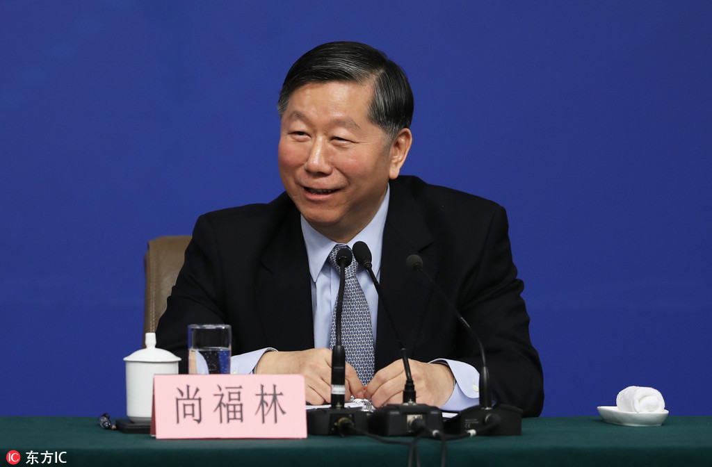
[[150, 238], [281, 190], [290, 65], [416, 97], [404, 173], [506, 206], [543, 414], [712, 415], [712, 2], [2, 1], [0, 415], [124, 416]]

